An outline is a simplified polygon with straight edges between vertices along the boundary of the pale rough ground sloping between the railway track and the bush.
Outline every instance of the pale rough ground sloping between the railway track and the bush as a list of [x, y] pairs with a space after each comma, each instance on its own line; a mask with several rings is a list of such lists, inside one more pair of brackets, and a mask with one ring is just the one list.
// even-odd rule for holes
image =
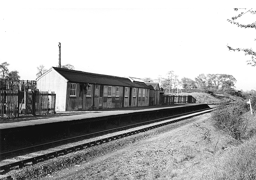
[[[165, 129], [163, 131], [155, 129], [140, 133], [140, 139], [134, 143], [48, 174], [41, 180], [190, 179], [196, 173], [195, 167], [212, 157], [208, 151], [214, 148], [212, 143], [202, 143], [202, 132], [193, 126], [198, 122], [209, 127], [208, 117], [209, 114], [204, 114], [161, 127]], [[214, 133], [212, 137], [222, 138]], [[121, 140], [116, 143], [121, 143]], [[222, 143], [225, 142], [219, 145]]]

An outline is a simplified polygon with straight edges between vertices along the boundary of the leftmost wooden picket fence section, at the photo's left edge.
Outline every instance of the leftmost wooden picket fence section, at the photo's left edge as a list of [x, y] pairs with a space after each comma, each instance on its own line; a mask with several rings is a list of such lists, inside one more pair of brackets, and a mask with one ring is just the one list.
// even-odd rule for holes
[[0, 116], [19, 117], [19, 91], [0, 90]]

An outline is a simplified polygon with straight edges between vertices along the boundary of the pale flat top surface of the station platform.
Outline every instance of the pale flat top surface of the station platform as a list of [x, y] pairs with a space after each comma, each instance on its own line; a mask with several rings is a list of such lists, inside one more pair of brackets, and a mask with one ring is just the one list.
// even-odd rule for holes
[[16, 119], [4, 119], [0, 121], [0, 130], [12, 129], [18, 127], [44, 125], [49, 123], [68, 122], [73, 120], [86, 120], [90, 118], [99, 118], [111, 115], [122, 115], [134, 112], [147, 112], [155, 110], [163, 110], [170, 108], [181, 108], [188, 106], [200, 105], [189, 103], [189, 104], [172, 104], [166, 106], [144, 106], [144, 107], [128, 107], [128, 108], [116, 108], [116, 109], [104, 109], [94, 111], [67, 111], [57, 112], [52, 115], [39, 115], [39, 116], [23, 116]]

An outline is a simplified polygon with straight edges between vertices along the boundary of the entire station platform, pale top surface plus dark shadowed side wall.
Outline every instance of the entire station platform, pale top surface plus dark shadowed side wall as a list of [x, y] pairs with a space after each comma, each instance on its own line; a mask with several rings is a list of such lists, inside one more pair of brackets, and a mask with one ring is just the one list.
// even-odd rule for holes
[[[105, 129], [114, 122], [147, 121], [166, 118], [209, 108], [207, 104], [172, 104], [169, 106], [129, 107], [94, 111], [57, 112], [52, 115], [4, 119], [0, 122], [0, 151], [8, 152], [25, 144], [39, 144], [59, 139], [72, 133], [90, 133], [99, 127]], [[71, 134], [70, 134], [71, 133]], [[45, 140], [48, 139], [48, 140]]]

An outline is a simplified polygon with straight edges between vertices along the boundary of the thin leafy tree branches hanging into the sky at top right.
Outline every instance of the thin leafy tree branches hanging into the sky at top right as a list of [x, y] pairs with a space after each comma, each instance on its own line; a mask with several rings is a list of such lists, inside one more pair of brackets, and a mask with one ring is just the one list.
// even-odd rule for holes
[[[238, 8], [234, 8], [235, 11], [238, 11]], [[242, 11], [246, 11], [246, 8], [242, 9]], [[247, 12], [250, 12], [251, 14], [255, 15], [256, 11], [252, 11], [252, 9], [249, 9], [246, 12], [241, 12], [240, 14], [238, 14], [237, 16], [234, 16], [231, 19], [227, 19], [228, 22], [230, 22], [231, 24], [234, 24], [238, 27], [241, 28], [256, 28], [256, 22], [252, 23], [252, 24], [241, 24], [236, 22], [236, 20], [238, 18], [240, 18], [242, 15], [246, 14]], [[256, 39], [255, 39], [256, 40]], [[252, 59], [248, 60], [246, 62], [248, 62], [247, 64], [251, 65], [251, 66], [256, 66], [256, 52], [253, 51], [251, 48], [233, 48], [229, 45], [227, 45], [227, 47], [229, 48], [229, 50], [233, 50], [233, 51], [244, 51], [245, 55], [251, 55]]]

